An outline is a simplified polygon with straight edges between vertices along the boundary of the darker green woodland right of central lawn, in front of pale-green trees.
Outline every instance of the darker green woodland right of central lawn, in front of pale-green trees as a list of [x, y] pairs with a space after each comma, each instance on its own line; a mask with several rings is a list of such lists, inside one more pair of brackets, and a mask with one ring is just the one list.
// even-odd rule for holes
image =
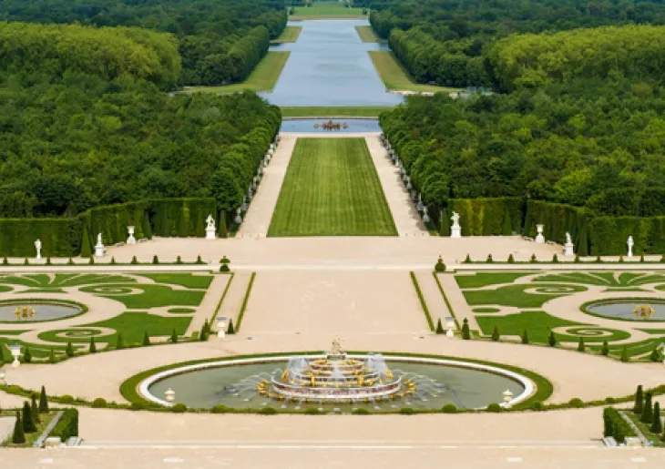
[[665, 88], [614, 77], [508, 95], [411, 97], [381, 124], [431, 208], [519, 197], [665, 213]]

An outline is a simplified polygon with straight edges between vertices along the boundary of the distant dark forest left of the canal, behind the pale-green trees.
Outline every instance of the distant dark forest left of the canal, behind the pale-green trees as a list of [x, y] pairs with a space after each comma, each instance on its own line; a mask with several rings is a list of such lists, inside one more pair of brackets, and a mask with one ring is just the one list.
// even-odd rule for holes
[[237, 82], [286, 25], [281, 0], [0, 0], [0, 20], [136, 26], [174, 35], [183, 85]]

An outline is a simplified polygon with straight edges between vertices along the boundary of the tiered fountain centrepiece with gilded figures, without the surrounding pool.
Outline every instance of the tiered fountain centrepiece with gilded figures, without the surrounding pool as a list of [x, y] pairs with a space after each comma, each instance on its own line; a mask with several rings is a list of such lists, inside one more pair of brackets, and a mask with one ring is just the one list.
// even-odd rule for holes
[[415, 382], [395, 376], [378, 353], [350, 358], [339, 342], [323, 357], [294, 357], [280, 374], [257, 383], [257, 391], [277, 400], [354, 403], [413, 394]]

